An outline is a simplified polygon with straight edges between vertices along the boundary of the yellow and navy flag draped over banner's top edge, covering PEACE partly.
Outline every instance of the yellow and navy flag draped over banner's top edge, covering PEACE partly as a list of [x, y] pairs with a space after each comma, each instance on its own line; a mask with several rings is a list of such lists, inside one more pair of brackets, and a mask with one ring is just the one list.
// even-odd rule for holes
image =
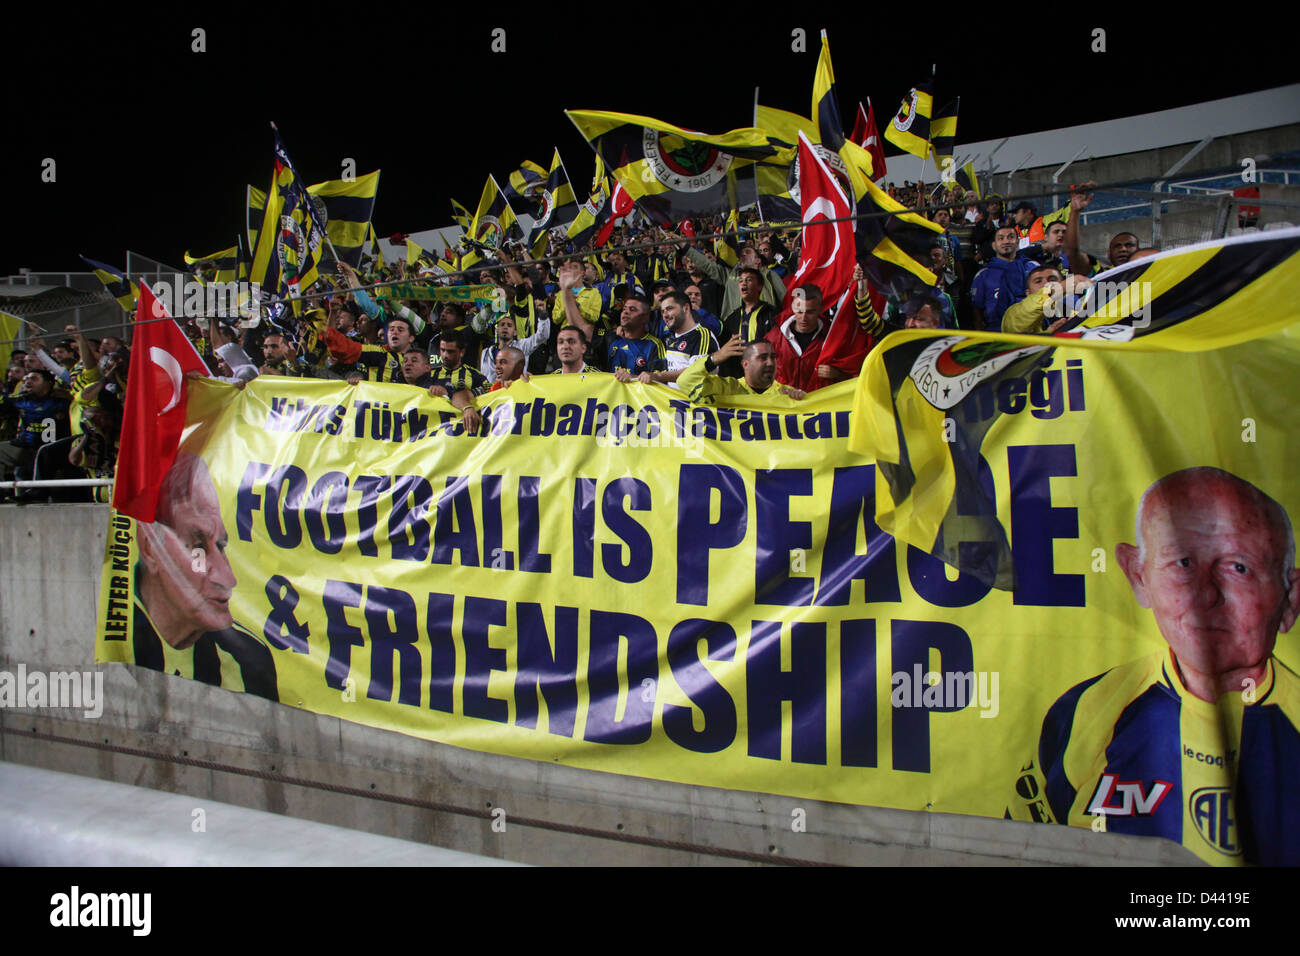
[[[1046, 303], [1046, 294], [1039, 295]], [[1300, 229], [1288, 229], [1187, 246], [1104, 272], [1053, 336], [888, 334], [858, 378], [849, 437], [852, 449], [876, 459], [876, 524], [984, 584], [1014, 588], [1009, 536], [982, 480], [988, 467], [982, 446], [1002, 415], [1004, 384], [1015, 378], [1023, 388], [1041, 378], [1057, 349], [1083, 355], [1240, 345], [1295, 325], [1296, 302]], [[1066, 375], [1071, 362], [1082, 364], [1069, 359]], [[1005, 431], [1001, 436], [1006, 441]]]

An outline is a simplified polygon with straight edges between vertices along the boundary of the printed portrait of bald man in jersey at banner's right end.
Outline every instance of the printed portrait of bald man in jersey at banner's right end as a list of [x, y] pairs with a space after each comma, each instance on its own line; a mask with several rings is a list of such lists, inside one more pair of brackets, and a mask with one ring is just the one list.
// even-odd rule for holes
[[1286, 510], [1186, 468], [1147, 489], [1115, 558], [1167, 646], [1052, 705], [1008, 816], [1165, 836], [1212, 864], [1300, 864], [1300, 676], [1273, 653], [1300, 611]]

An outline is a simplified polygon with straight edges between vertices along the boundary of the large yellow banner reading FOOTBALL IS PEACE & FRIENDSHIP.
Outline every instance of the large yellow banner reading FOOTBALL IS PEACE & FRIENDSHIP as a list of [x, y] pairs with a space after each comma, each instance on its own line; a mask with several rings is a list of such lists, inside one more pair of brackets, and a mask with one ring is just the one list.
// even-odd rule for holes
[[477, 750], [1297, 862], [1297, 371], [1291, 326], [1000, 386], [1014, 591], [879, 531], [853, 382], [706, 407], [542, 376], [465, 434], [415, 388], [200, 381], [159, 520], [110, 519], [98, 659]]

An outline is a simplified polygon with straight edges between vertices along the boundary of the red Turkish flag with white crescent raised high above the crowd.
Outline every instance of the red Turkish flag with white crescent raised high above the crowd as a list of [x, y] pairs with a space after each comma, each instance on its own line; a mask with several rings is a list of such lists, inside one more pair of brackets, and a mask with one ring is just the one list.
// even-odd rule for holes
[[[803, 233], [800, 239], [800, 267], [785, 280], [785, 302], [777, 324], [792, 312], [794, 290], [812, 284], [822, 290], [822, 304], [840, 298], [853, 280], [858, 250], [853, 242], [853, 206], [826, 163], [800, 133], [800, 206]], [[816, 222], [838, 219], [840, 222]]]

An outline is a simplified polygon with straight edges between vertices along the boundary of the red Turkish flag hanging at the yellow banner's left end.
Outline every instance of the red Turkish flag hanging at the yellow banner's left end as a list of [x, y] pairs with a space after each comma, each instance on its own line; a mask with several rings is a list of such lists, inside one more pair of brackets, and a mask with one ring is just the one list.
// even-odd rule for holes
[[[159, 321], [160, 320], [160, 321]], [[152, 522], [162, 477], [185, 431], [185, 376], [211, 375], [194, 345], [144, 282], [135, 312], [113, 507]]]

